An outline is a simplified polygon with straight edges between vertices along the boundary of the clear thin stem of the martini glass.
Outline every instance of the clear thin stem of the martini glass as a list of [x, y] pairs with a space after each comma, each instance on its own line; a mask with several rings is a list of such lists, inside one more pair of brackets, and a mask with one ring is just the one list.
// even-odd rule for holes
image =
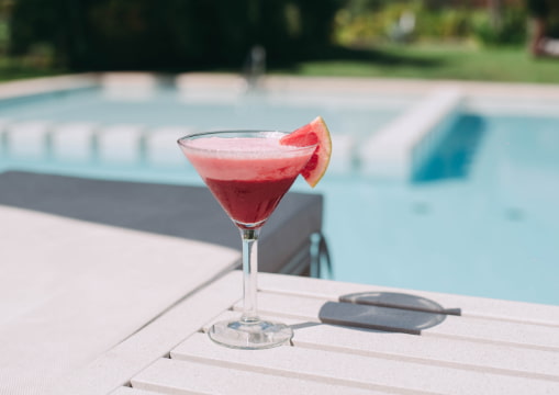
[[244, 323], [257, 323], [258, 236], [260, 229], [241, 229], [243, 238], [243, 316]]

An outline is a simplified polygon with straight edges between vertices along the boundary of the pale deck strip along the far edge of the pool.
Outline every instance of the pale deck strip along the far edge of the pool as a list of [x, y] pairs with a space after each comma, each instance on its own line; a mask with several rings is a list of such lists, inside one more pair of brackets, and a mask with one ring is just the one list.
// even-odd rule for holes
[[[179, 89], [197, 87], [228, 88], [244, 91], [244, 79], [233, 74], [188, 72], [177, 76], [159, 76], [149, 72], [103, 72], [44, 77], [0, 83], [0, 99], [29, 94], [65, 91], [103, 86], [109, 88], [144, 88], [176, 86]], [[291, 77], [269, 75], [262, 78], [262, 89], [279, 91], [323, 91], [350, 93], [387, 93], [423, 97], [431, 91], [456, 88], [468, 97], [530, 100], [536, 102], [559, 100], [559, 84], [508, 83], [461, 80], [414, 80], [359, 77]], [[222, 91], [223, 93], [223, 91]]]

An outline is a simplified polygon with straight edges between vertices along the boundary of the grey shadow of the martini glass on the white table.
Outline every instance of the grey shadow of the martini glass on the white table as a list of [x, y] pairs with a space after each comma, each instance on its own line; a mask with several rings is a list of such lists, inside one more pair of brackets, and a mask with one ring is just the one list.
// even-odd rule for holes
[[[460, 314], [460, 308], [444, 308], [422, 296], [365, 292], [343, 295], [339, 302], [326, 302], [318, 312], [318, 319], [323, 324], [421, 335], [422, 330], [441, 324], [448, 315]], [[305, 324], [294, 329], [303, 327]]]

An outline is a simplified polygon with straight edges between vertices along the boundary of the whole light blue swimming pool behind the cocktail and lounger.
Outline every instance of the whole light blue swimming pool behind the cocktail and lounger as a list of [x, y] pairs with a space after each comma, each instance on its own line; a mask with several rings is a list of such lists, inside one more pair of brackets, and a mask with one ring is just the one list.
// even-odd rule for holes
[[[27, 137], [14, 142], [5, 137], [13, 129], [4, 132], [0, 169], [200, 184], [175, 151], [174, 136], [220, 127], [292, 129], [321, 114], [335, 156], [315, 192], [325, 195], [334, 279], [559, 304], [558, 116], [461, 106], [410, 180], [384, 180], [364, 174], [367, 158], [356, 153], [422, 94], [298, 87], [273, 94], [214, 86], [93, 87], [7, 101], [0, 106], [0, 120], [11, 122], [4, 131], [23, 125]], [[60, 125], [77, 123], [81, 139], [57, 139], [65, 135]], [[133, 149], [111, 151], [115, 142]], [[152, 146], [165, 149], [153, 155]], [[310, 192], [300, 181], [294, 189]]]

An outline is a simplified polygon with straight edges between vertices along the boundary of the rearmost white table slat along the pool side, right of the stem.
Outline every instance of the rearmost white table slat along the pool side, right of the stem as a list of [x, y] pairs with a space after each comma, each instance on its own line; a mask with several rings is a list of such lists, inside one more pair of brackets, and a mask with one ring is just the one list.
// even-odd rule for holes
[[[289, 275], [258, 274], [258, 286], [262, 291], [320, 297], [333, 302], [344, 295], [382, 294], [383, 305], [409, 308], [410, 301], [426, 300], [433, 306], [447, 311], [460, 311], [465, 317], [535, 323], [559, 327], [559, 306], [522, 303], [483, 297], [462, 296], [426, 291], [402, 290], [388, 286], [354, 284], [329, 280], [293, 278]], [[407, 296], [407, 297], [402, 297]], [[415, 301], [421, 302], [421, 301]], [[434, 307], [434, 312], [437, 308]]]

